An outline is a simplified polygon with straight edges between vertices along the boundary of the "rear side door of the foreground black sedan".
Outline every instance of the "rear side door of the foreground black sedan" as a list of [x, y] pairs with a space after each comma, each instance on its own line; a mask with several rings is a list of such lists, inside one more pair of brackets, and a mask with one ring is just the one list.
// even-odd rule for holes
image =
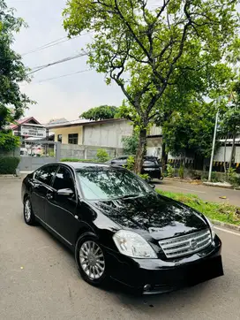
[[45, 222], [46, 196], [51, 189], [50, 185], [55, 176], [57, 165], [49, 164], [34, 172], [31, 202], [34, 215]]

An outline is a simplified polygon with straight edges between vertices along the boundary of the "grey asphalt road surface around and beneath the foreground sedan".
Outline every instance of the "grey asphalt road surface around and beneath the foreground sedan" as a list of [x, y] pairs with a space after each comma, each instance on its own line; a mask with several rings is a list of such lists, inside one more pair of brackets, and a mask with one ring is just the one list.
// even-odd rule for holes
[[175, 293], [133, 297], [79, 276], [73, 256], [22, 217], [20, 182], [0, 181], [0, 318], [240, 319], [240, 233], [217, 230], [225, 276]]

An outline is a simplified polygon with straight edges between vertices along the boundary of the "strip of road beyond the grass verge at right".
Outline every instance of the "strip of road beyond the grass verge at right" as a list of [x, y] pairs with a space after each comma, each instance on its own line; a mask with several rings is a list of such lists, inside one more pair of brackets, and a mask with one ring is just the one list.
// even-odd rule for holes
[[[206, 187], [203, 185], [194, 185], [187, 182], [178, 182], [169, 179], [163, 179], [160, 183], [156, 180], [156, 187], [170, 192], [182, 194], [197, 194], [199, 198], [206, 202], [229, 202], [240, 207], [240, 190], [224, 189], [221, 187]], [[221, 199], [226, 196], [227, 199]]]

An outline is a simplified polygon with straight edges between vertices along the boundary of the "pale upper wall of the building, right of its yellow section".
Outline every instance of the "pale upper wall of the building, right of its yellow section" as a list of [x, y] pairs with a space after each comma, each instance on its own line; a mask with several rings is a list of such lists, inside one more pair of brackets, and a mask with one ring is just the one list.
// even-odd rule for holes
[[84, 126], [83, 144], [99, 148], [123, 148], [122, 138], [132, 133], [131, 122], [127, 120], [112, 121], [99, 125]]

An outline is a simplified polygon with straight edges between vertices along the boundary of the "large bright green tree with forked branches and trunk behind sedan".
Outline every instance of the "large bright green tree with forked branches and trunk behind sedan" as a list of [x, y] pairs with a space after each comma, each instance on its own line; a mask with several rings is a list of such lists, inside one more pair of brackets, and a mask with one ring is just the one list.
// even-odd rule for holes
[[143, 162], [147, 127], [159, 117], [159, 109], [166, 115], [163, 106], [168, 88], [177, 85], [187, 92], [207, 84], [208, 91], [217, 91], [221, 69], [228, 69], [222, 57], [227, 61], [236, 50], [236, 3], [163, 0], [154, 8], [147, 0], [67, 3], [65, 29], [70, 36], [84, 30], [94, 32], [87, 45], [88, 63], [106, 74], [107, 84], [114, 80], [122, 89], [124, 115], [139, 127], [135, 171], [140, 171]]

